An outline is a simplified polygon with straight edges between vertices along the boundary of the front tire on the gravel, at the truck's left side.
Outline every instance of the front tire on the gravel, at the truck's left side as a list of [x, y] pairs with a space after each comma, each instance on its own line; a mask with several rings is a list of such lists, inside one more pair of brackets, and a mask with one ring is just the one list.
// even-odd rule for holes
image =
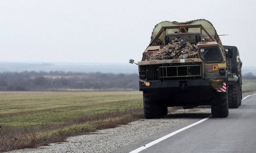
[[148, 94], [143, 93], [144, 118], [160, 118], [162, 117], [161, 105], [158, 101], [151, 100]]

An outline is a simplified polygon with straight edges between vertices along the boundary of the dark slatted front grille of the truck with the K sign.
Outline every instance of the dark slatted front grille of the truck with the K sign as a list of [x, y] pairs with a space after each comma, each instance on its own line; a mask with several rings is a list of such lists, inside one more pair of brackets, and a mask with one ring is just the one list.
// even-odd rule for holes
[[140, 72], [146, 73], [147, 81], [202, 78], [201, 69], [202, 63], [140, 65]]

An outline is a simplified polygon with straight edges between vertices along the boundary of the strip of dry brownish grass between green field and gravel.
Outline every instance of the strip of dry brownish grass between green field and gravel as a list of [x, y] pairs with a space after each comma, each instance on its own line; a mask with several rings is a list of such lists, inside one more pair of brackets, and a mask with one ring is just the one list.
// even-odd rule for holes
[[89, 134], [98, 129], [114, 128], [138, 118], [143, 118], [142, 108], [102, 113], [89, 117], [81, 116], [73, 121], [56, 126], [5, 126], [0, 128], [0, 152], [12, 149], [35, 148], [65, 141], [69, 136]]

